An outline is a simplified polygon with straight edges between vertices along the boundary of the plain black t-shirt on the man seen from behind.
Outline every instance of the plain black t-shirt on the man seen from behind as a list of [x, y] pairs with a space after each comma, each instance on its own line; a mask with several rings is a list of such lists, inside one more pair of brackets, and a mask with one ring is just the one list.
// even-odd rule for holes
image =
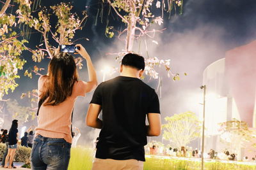
[[100, 83], [90, 103], [102, 106], [96, 158], [145, 161], [147, 113], [160, 113], [154, 89], [138, 78], [118, 76]]

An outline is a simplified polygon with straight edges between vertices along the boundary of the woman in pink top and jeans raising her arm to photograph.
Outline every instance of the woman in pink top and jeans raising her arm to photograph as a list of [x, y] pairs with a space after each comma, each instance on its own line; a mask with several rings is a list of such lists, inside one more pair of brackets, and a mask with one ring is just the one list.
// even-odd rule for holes
[[48, 66], [48, 74], [38, 80], [40, 101], [38, 126], [31, 152], [32, 169], [68, 168], [70, 159], [71, 115], [77, 96], [85, 96], [97, 86], [97, 77], [90, 56], [82, 45], [78, 52], [87, 62], [90, 81], [78, 80], [76, 63], [68, 53], [56, 54]]

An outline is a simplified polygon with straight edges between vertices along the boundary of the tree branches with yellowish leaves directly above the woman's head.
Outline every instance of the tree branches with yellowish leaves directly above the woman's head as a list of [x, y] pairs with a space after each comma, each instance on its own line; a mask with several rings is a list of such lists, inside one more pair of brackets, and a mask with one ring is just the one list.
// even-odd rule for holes
[[[29, 9], [31, 9], [31, 5], [32, 4], [29, 3]], [[73, 6], [70, 5], [70, 3], [56, 4], [51, 6], [49, 10], [42, 7], [38, 10], [38, 17], [35, 17], [35, 14], [33, 14], [31, 10], [17, 10], [19, 18], [22, 18], [24, 24], [42, 34], [42, 43], [40, 42], [40, 45], [37, 45], [36, 49], [27, 48], [32, 53], [34, 62], [41, 62], [45, 57], [52, 59], [56, 47], [50, 43], [52, 41], [49, 41], [49, 39], [52, 39], [58, 44], [70, 45], [74, 43], [72, 39], [74, 39], [76, 31], [83, 28], [83, 24], [88, 15], [86, 15], [86, 11], [83, 11], [83, 17], [80, 18], [76, 13], [72, 13], [72, 8]], [[54, 17], [53, 15], [58, 18], [56, 24], [50, 22], [51, 17]], [[81, 62], [81, 57], [77, 57], [76, 64], [80, 69], [83, 66]], [[24, 75], [32, 78], [33, 73], [42, 75], [40, 74], [42, 70], [44, 70], [44, 68], [35, 65], [26, 70]], [[31, 107], [34, 107], [37, 101], [37, 90], [33, 89], [29, 92], [22, 93], [21, 98], [24, 97], [29, 97], [32, 103]]]

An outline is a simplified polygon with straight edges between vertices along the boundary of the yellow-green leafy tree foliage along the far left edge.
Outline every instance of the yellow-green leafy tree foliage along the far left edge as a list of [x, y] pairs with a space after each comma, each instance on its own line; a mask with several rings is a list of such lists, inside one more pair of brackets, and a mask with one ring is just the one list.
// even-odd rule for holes
[[[21, 11], [26, 11], [26, 4], [15, 1], [19, 4]], [[0, 11], [0, 101], [8, 90], [14, 90], [18, 86], [16, 78], [19, 78], [18, 70], [22, 69], [26, 60], [22, 59], [21, 53], [26, 50], [26, 39], [22, 39], [22, 32], [17, 33], [16, 25], [21, 22], [15, 15], [6, 13], [10, 6], [10, 0], [4, 3]]]

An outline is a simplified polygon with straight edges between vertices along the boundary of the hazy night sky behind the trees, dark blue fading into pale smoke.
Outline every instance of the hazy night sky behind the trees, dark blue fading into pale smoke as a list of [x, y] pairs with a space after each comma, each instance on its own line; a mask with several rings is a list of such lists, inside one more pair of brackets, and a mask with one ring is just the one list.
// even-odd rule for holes
[[[41, 6], [51, 6], [60, 2], [70, 1], [42, 1]], [[109, 25], [113, 25], [115, 28], [124, 27], [124, 25], [121, 24], [120, 20], [116, 20], [116, 17], [108, 17], [108, 15], [104, 15], [102, 23], [100, 22], [101, 18], [97, 18], [97, 25], [95, 25], [97, 10], [100, 8], [98, 0], [71, 1], [71, 4], [78, 15], [81, 14], [82, 10], [88, 10], [88, 20], [83, 30], [77, 31], [76, 38], [90, 39], [90, 41], [83, 39], [77, 43], [85, 46], [90, 53], [100, 83], [102, 81], [102, 73], [100, 72], [103, 67], [102, 61], [108, 60], [109, 63], [115, 63], [115, 56], [109, 56], [106, 53], [119, 52], [124, 48], [124, 42], [117, 38], [109, 39], [104, 36], [106, 20], [108, 18]], [[107, 9], [108, 5], [106, 4], [104, 8]], [[245, 45], [256, 39], [255, 10], [255, 0], [185, 0], [182, 15], [173, 15], [170, 20], [167, 15], [164, 17], [163, 27], [166, 27], [166, 30], [157, 34], [155, 38], [159, 45], [152, 43], [149, 45], [150, 57], [171, 59], [172, 71], [173, 73], [180, 73], [181, 80], [173, 81], [166, 76], [163, 69], [159, 69], [160, 75], [163, 76], [163, 96], [160, 99], [163, 118], [185, 111], [200, 114], [201, 106], [198, 103], [201, 101], [202, 91], [199, 87], [202, 85], [205, 67], [215, 60], [225, 57], [227, 50]], [[29, 39], [28, 46], [38, 45], [38, 39], [40, 39], [40, 35], [33, 34]], [[24, 52], [22, 56], [28, 60], [28, 63], [19, 74], [23, 74], [25, 69], [35, 65], [31, 61], [29, 52]], [[45, 67], [48, 62], [49, 60], [45, 59], [44, 62], [40, 63], [40, 66]], [[116, 63], [117, 65], [118, 63]], [[183, 73], [188, 73], [188, 76], [184, 76]], [[79, 75], [81, 80], [88, 80], [85, 67]], [[145, 78], [145, 81], [156, 89], [157, 80]], [[22, 92], [35, 89], [37, 77], [34, 76], [31, 80], [21, 76], [17, 83], [19, 83], [19, 87], [5, 98], [19, 99]], [[157, 93], [159, 94], [159, 92]], [[79, 98], [79, 102], [75, 106], [74, 126], [80, 127], [82, 132], [92, 130], [84, 126], [84, 118], [91, 97], [92, 92], [84, 98]], [[196, 99], [198, 100], [196, 101]], [[19, 100], [19, 103], [26, 105], [28, 101]]]

